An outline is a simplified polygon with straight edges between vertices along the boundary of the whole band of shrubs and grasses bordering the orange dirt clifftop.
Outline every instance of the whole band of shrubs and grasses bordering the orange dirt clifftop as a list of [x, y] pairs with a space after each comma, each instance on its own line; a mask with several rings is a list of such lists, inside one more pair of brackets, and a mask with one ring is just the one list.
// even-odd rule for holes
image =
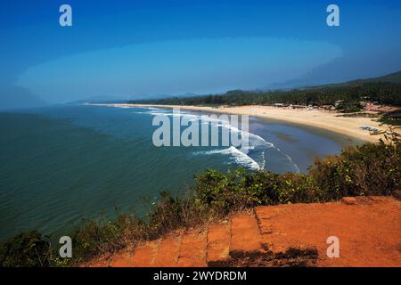
[[119, 214], [113, 221], [82, 221], [70, 232], [72, 258], [61, 259], [51, 237], [23, 232], [0, 244], [1, 266], [78, 265], [177, 228], [205, 224], [259, 205], [310, 203], [344, 196], [390, 195], [401, 187], [401, 142], [366, 143], [340, 155], [316, 159], [307, 175], [277, 175], [239, 168], [207, 170], [182, 195], [162, 192], [144, 218]]

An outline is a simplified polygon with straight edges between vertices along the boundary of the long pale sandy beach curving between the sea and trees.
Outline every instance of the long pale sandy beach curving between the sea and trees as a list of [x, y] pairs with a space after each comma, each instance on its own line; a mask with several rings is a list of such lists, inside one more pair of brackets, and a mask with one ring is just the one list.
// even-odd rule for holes
[[379, 122], [372, 118], [341, 117], [340, 113], [325, 110], [298, 110], [285, 109], [271, 106], [239, 106], [239, 107], [206, 107], [206, 106], [182, 106], [182, 105], [143, 105], [143, 104], [94, 104], [110, 107], [154, 107], [154, 108], [180, 108], [183, 110], [200, 110], [220, 112], [227, 114], [249, 115], [260, 118], [270, 118], [323, 128], [338, 134], [347, 134], [366, 142], [378, 142], [382, 135], [370, 135], [361, 126], [371, 126], [379, 130], [386, 130], [387, 126], [380, 126]]

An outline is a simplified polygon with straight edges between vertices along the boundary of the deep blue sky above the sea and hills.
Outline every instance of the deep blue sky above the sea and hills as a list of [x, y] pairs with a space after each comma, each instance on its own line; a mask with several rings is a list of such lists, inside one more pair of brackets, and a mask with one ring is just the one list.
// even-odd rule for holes
[[[59, 25], [61, 4], [72, 7], [72, 27]], [[340, 27], [326, 25], [328, 4], [340, 6]], [[319, 84], [401, 69], [399, 1], [14, 0], [2, 1], [0, 13], [0, 106]]]

